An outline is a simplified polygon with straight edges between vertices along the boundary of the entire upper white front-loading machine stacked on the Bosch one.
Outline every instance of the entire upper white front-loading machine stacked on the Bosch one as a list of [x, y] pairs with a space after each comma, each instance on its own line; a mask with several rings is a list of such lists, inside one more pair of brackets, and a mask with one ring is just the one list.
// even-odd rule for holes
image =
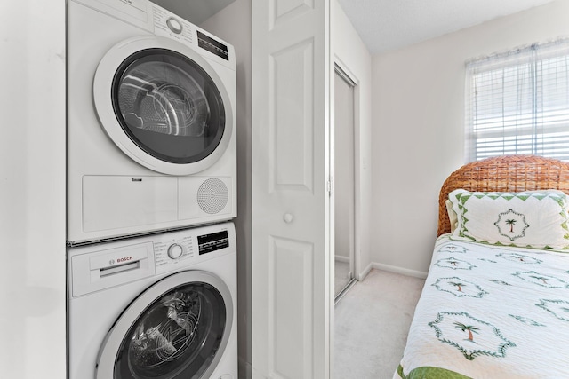
[[148, 0], [68, 0], [68, 245], [236, 217], [233, 46]]

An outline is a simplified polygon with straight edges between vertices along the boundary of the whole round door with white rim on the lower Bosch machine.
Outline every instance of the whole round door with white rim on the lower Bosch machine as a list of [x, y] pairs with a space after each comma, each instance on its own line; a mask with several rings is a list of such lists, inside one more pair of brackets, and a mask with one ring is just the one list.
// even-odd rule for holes
[[106, 336], [97, 379], [208, 378], [233, 324], [225, 283], [210, 272], [178, 272], [156, 282]]

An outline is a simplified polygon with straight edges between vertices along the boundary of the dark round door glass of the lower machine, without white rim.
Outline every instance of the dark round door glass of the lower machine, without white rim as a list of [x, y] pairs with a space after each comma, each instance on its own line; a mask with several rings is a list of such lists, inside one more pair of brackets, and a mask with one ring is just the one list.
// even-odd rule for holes
[[224, 348], [229, 316], [223, 296], [212, 284], [192, 282], [173, 288], [157, 297], [126, 332], [116, 354], [114, 378], [202, 377]]

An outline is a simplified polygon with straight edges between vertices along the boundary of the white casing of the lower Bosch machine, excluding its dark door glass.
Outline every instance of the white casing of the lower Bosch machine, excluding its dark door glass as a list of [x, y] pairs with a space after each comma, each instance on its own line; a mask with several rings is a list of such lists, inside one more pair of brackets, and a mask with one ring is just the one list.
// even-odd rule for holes
[[[101, 270], [143, 261], [146, 269], [140, 265], [100, 278]], [[116, 348], [124, 340], [123, 332], [116, 331], [128, 329], [126, 319], [134, 322], [156, 297], [169, 293], [173, 285], [168, 279], [174, 276], [219, 283], [221, 293], [227, 288], [227, 345], [208, 377], [237, 379], [236, 236], [231, 223], [69, 248], [68, 379], [100, 378], [98, 362], [106, 375], [112, 372], [108, 365], [115, 359], [101, 355], [114, 351], [109, 344]]]

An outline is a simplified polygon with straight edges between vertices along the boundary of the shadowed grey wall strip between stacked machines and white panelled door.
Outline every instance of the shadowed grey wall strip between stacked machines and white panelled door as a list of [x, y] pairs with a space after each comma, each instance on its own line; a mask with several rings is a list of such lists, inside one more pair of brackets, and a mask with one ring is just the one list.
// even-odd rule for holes
[[200, 27], [234, 45], [237, 62], [237, 328], [239, 377], [251, 376], [251, 0], [236, 0]]

